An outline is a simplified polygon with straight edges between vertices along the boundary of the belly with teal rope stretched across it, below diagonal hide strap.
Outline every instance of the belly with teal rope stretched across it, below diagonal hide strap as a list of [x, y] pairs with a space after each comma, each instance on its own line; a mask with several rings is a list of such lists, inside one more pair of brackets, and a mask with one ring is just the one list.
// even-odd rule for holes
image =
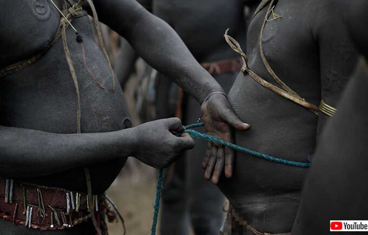
[[[308, 162], [315, 148], [315, 114], [243, 74], [231, 88], [229, 100], [236, 115], [251, 125], [249, 131], [236, 131], [237, 145], [278, 158]], [[223, 178], [219, 186], [230, 198], [299, 191], [306, 172], [307, 168], [273, 163], [238, 151], [233, 177]]]

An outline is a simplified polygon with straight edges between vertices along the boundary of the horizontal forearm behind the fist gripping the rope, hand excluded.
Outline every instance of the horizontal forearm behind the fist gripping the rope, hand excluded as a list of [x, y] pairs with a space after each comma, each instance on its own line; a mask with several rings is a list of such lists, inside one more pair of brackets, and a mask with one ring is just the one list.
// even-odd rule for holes
[[127, 157], [132, 154], [134, 147], [131, 129], [107, 133], [58, 134], [0, 126], [0, 175], [47, 175], [116, 157]]

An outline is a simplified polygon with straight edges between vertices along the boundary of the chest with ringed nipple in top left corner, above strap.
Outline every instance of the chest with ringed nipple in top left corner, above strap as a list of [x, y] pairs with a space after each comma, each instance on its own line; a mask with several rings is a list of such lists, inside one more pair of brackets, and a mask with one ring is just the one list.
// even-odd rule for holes
[[[54, 2], [61, 7], [60, 0]], [[50, 0], [5, 1], [0, 15], [1, 68], [44, 51], [60, 22]]]

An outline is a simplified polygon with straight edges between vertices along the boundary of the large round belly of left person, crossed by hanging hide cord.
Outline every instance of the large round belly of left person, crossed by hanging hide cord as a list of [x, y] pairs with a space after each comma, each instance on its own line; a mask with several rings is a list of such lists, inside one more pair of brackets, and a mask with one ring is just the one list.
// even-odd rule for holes
[[[82, 19], [84, 18], [84, 19]], [[85, 28], [88, 18], [76, 19], [75, 26]], [[81, 30], [80, 30], [81, 31]], [[92, 32], [81, 31], [86, 62], [106, 89], [99, 88], [84, 69], [81, 45], [67, 29], [68, 47], [77, 72], [81, 100], [81, 132], [110, 132], [130, 127], [130, 117], [124, 95], [112, 75], [105, 57], [95, 44]], [[0, 79], [1, 125], [36, 129], [54, 133], [76, 133], [77, 95], [66, 62], [61, 39], [40, 59], [21, 71]], [[42, 148], [42, 146], [39, 146]], [[103, 158], [103, 156], [101, 156]], [[126, 158], [90, 165], [94, 194], [104, 192], [123, 167]], [[27, 181], [75, 191], [86, 191], [83, 168]]]

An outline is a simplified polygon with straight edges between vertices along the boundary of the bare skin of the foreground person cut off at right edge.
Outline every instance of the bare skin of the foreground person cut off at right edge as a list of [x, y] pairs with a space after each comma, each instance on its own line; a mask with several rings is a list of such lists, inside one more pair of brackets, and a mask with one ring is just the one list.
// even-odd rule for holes
[[[367, 1], [346, 1], [347, 28], [362, 54], [351, 81], [326, 125], [303, 186], [293, 234], [328, 233], [330, 220], [365, 220], [368, 191]], [[313, 221], [313, 226], [310, 222]], [[347, 234], [352, 234], [347, 232]]]

